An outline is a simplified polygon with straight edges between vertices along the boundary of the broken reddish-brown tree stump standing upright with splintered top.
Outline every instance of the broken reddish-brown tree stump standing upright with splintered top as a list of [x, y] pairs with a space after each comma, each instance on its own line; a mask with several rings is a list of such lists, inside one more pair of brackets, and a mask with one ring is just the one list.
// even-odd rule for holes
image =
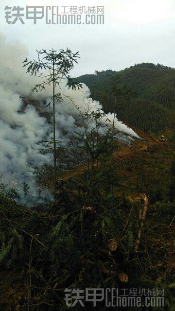
[[148, 207], [149, 207], [149, 197], [147, 197], [145, 194], [144, 195], [141, 194], [141, 198], [144, 200], [144, 206], [143, 206], [143, 210], [141, 210], [140, 208], [140, 213], [139, 213], [140, 225], [139, 225], [139, 230], [138, 230], [138, 237], [135, 242], [135, 248], [134, 248], [135, 253], [139, 251], [140, 242], [141, 242], [141, 229], [144, 226], [146, 214], [147, 214]]

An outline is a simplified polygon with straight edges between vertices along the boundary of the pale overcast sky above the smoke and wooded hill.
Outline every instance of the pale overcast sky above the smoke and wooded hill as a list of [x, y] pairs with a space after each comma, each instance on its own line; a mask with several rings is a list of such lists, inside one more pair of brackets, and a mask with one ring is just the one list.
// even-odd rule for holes
[[[45, 17], [8, 25], [4, 7], [26, 5], [104, 6], [104, 25], [47, 25]], [[83, 18], [83, 17], [82, 17]], [[35, 50], [69, 48], [81, 58], [71, 75], [121, 70], [151, 62], [175, 67], [175, 0], [0, 0], [0, 32]]]

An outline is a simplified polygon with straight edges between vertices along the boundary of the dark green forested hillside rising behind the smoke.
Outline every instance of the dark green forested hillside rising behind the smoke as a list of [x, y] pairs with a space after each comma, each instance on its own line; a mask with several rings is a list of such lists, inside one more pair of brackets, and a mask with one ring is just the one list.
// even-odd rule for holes
[[131, 96], [116, 95], [117, 117], [145, 131], [161, 134], [175, 124], [175, 69], [163, 65], [137, 64], [119, 72], [95, 71], [76, 78], [85, 83], [94, 100], [99, 100], [105, 112], [114, 111], [111, 86], [117, 78], [117, 88], [127, 86]]

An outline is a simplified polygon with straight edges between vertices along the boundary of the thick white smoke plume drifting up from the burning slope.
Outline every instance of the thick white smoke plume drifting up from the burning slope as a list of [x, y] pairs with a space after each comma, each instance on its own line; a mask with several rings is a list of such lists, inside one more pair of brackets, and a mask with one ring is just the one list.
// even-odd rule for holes
[[[27, 53], [25, 46], [19, 42], [6, 42], [3, 35], [0, 35], [0, 172], [3, 182], [11, 185], [17, 183], [18, 188], [25, 180], [26, 172], [32, 176], [34, 167], [52, 163], [52, 154], [40, 153], [46, 147], [42, 141], [53, 137], [52, 124], [45, 117], [41, 117], [31, 104], [21, 111], [19, 96], [28, 97], [35, 84], [40, 82], [40, 78], [25, 73], [26, 69], [22, 68]], [[56, 138], [63, 140], [66, 145], [75, 130], [83, 131], [83, 127], [77, 125], [80, 115], [69, 97], [82, 113], [87, 110], [87, 104], [90, 111], [102, 110], [102, 105], [88, 98], [90, 92], [86, 85], [83, 85], [83, 91], [74, 91], [68, 89], [64, 80], [58, 92], [60, 91], [68, 97], [64, 97], [64, 101], [56, 105]], [[51, 86], [32, 94], [32, 98], [39, 101], [39, 107], [48, 113], [52, 110], [44, 108], [43, 101], [49, 102], [51, 96]], [[113, 114], [109, 113], [107, 118], [113, 123]], [[105, 121], [106, 117], [102, 120], [104, 125]], [[138, 137], [117, 118], [115, 126], [119, 131], [119, 139], [128, 141]]]

